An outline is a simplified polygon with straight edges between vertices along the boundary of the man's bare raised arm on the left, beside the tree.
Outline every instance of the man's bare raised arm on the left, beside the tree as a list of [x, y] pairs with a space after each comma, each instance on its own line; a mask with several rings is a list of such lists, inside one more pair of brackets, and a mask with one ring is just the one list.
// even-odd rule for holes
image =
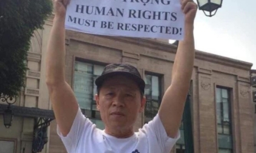
[[78, 104], [71, 86], [64, 77], [65, 69], [65, 14], [67, 1], [54, 0], [54, 23], [46, 54], [46, 83], [54, 115], [62, 135], [71, 130]]

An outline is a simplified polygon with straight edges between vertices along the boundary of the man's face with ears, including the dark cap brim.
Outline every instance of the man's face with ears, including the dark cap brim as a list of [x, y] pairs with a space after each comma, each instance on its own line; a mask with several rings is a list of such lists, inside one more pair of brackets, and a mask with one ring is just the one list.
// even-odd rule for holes
[[105, 80], [100, 88], [100, 95], [96, 95], [95, 99], [101, 119], [109, 130], [133, 129], [146, 102], [136, 83], [124, 76]]

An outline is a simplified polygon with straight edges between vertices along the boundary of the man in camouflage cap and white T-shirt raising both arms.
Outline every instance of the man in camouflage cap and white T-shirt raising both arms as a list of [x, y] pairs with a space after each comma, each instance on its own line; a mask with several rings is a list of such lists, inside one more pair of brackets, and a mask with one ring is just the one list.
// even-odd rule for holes
[[[179, 125], [189, 90], [194, 62], [193, 24], [197, 5], [182, 0], [185, 37], [179, 42], [172, 69], [172, 84], [162, 98], [156, 117], [133, 132], [143, 112], [145, 83], [135, 67], [110, 64], [97, 78], [97, 109], [105, 129], [97, 129], [81, 113], [71, 87], [65, 82], [65, 13], [68, 0], [54, 1], [54, 24], [46, 58], [46, 81], [50, 93], [57, 132], [69, 153], [169, 153], [179, 138]], [[170, 68], [171, 70], [171, 68]]]

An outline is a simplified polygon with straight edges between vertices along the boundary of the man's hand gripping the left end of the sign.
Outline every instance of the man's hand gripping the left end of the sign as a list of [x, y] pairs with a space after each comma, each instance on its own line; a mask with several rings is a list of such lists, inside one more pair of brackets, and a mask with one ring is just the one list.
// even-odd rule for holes
[[55, 16], [64, 18], [69, 2], [71, 2], [71, 0], [54, 0]]

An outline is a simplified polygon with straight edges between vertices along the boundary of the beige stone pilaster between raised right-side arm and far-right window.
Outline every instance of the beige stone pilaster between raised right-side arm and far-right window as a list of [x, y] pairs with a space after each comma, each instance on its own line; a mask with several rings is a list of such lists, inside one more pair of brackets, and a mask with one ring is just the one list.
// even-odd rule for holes
[[216, 150], [215, 101], [212, 70], [198, 69], [199, 80], [199, 152]]

